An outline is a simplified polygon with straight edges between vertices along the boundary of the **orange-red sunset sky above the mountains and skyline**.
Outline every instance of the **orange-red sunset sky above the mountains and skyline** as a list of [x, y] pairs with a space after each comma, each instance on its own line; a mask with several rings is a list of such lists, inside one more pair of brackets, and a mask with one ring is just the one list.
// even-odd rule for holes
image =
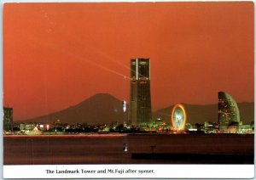
[[3, 97], [15, 120], [96, 93], [129, 101], [129, 62], [150, 58], [154, 110], [253, 102], [253, 3], [5, 3]]

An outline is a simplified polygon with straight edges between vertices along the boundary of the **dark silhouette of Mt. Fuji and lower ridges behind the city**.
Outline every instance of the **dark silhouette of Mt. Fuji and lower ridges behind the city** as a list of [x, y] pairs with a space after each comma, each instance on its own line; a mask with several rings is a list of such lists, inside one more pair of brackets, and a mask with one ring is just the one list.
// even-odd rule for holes
[[[163, 119], [171, 123], [172, 108], [175, 104], [165, 109], [153, 112], [153, 118]], [[205, 121], [218, 122], [218, 104], [183, 104], [187, 112], [187, 122], [190, 124], [204, 123]], [[254, 120], [254, 103], [239, 103], [241, 121], [243, 124], [251, 123]], [[89, 125], [111, 124], [113, 122], [123, 123], [127, 120], [129, 104], [126, 113], [123, 112], [123, 101], [114, 98], [108, 93], [97, 93], [85, 99], [79, 104], [73, 105], [65, 110], [60, 110], [49, 115], [42, 115], [36, 118], [20, 120], [22, 122], [53, 123], [61, 120], [62, 123], [77, 124], [87, 123]]]

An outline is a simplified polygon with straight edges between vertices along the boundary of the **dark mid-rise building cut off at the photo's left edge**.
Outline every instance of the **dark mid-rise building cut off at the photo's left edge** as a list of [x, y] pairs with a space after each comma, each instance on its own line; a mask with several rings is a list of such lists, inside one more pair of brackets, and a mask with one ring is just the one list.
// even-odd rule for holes
[[3, 107], [3, 132], [13, 132], [13, 109]]

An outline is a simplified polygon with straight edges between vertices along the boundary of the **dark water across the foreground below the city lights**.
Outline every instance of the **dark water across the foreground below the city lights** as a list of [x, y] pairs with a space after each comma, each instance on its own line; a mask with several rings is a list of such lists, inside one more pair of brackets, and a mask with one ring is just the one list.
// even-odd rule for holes
[[238, 134], [6, 136], [3, 164], [253, 164], [253, 142]]

